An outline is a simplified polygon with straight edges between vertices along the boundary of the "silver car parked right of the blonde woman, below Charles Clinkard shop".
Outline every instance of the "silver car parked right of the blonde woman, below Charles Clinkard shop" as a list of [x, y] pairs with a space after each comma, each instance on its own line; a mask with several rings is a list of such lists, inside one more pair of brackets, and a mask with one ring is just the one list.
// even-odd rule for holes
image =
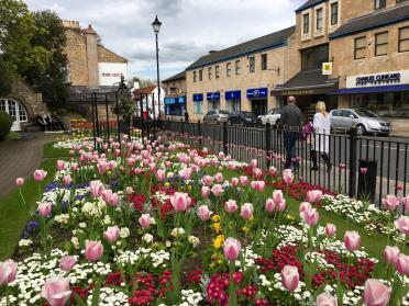
[[332, 110], [330, 114], [332, 129], [350, 131], [356, 125], [358, 135], [368, 133], [388, 135], [391, 132], [391, 125], [387, 120], [368, 110], [339, 109]]

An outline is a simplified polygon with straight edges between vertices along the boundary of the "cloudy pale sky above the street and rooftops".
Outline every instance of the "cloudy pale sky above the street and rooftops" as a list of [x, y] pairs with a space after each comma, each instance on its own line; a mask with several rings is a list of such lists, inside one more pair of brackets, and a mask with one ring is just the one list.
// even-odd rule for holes
[[26, 0], [31, 11], [92, 24], [110, 50], [129, 59], [128, 77], [156, 79], [157, 14], [161, 79], [185, 70], [209, 50], [223, 49], [295, 25], [306, 0]]

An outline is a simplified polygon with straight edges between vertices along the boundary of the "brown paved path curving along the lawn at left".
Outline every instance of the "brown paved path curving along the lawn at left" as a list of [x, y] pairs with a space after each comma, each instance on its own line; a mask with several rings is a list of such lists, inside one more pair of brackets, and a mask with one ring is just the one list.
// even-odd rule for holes
[[0, 199], [15, 189], [15, 179], [29, 179], [43, 159], [44, 144], [55, 134], [21, 133], [19, 140], [0, 141]]

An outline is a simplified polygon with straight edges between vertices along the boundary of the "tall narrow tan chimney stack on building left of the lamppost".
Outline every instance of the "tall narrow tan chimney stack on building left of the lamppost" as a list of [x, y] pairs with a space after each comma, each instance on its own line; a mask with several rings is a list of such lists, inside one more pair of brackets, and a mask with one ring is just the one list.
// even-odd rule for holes
[[97, 88], [99, 86], [97, 32], [91, 24], [85, 31], [85, 36], [87, 41], [88, 87]]

